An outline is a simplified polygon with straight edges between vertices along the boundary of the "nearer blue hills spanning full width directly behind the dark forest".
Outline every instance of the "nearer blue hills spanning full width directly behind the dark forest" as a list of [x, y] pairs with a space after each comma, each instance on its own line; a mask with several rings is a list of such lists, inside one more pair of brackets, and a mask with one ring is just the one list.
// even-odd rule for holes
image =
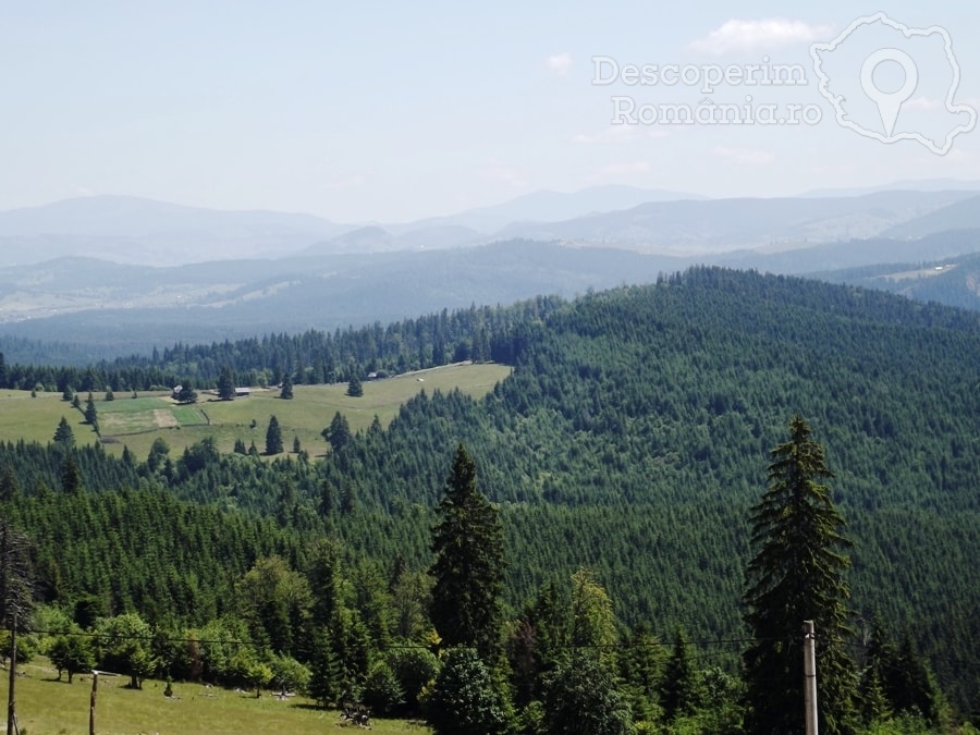
[[[332, 331], [443, 308], [509, 304], [538, 294], [571, 298], [590, 289], [650, 283], [660, 273], [699, 262], [786, 274], [825, 273], [957, 258], [978, 247], [977, 231], [961, 230], [919, 240], [797, 243], [788, 249], [689, 257], [515, 240], [451, 250], [226, 260], [181, 268], [71, 258], [0, 268], [0, 348], [11, 362], [60, 363], [71, 360], [66, 357], [71, 352], [79, 355], [74, 358], [78, 364], [149, 354], [174, 342]], [[860, 285], [889, 287], [873, 280]], [[909, 289], [907, 295], [976, 308], [961, 295], [945, 301], [918, 289]], [[25, 340], [71, 347], [45, 356]]]

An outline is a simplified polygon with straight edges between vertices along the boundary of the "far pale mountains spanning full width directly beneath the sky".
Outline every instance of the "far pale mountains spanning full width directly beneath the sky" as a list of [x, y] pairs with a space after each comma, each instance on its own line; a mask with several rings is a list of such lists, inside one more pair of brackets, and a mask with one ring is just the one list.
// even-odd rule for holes
[[[0, 211], [8, 265], [89, 257], [128, 265], [446, 249], [501, 240], [561, 241], [661, 255], [793, 248], [865, 237], [922, 237], [980, 226], [980, 192], [893, 189], [859, 196], [705, 199], [604, 186], [537, 192], [494, 207], [400, 224], [219, 211], [124, 196]], [[933, 183], [935, 184], [935, 182]]]

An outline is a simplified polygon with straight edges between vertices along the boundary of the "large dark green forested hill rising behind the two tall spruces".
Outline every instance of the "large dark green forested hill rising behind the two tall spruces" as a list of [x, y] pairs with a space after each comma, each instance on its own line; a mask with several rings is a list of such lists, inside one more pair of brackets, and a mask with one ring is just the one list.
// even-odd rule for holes
[[[285, 528], [299, 519], [307, 535], [320, 524], [357, 552], [422, 569], [431, 511], [462, 441], [501, 510], [515, 609], [542, 583], [588, 566], [622, 623], [664, 637], [681, 624], [720, 640], [743, 633], [749, 507], [765, 489], [769, 451], [798, 413], [836, 475], [830, 485], [855, 544], [857, 627], [881, 612], [896, 637], [910, 632], [955, 701], [977, 708], [976, 314], [720, 269], [466, 314], [433, 320], [453, 326], [436, 330], [439, 354], [492, 353], [514, 366], [480, 402], [422, 394], [387, 429], [345, 438], [321, 463], [201, 451], [189, 469], [181, 461], [166, 474], [140, 465], [106, 476], [163, 483]], [[378, 346], [387, 332], [364, 333]], [[240, 371], [273, 368], [247, 344], [216, 345], [195, 364], [235, 355]], [[409, 344], [406, 364], [420, 350]], [[391, 350], [378, 362], [397, 367], [402, 347]], [[370, 352], [359, 345], [341, 358], [356, 354], [362, 365]], [[431, 345], [424, 352], [432, 359]], [[290, 353], [297, 373], [311, 364], [294, 362], [301, 356], [318, 359]], [[86, 455], [82, 470], [96, 489], [93, 463]], [[28, 494], [34, 483], [22, 480]], [[74, 572], [59, 558], [48, 554], [49, 574], [69, 588]]]

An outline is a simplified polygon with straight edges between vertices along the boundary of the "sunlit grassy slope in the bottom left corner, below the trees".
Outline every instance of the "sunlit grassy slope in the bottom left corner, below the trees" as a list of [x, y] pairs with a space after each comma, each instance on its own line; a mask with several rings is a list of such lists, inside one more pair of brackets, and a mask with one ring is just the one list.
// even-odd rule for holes
[[[26, 735], [85, 735], [88, 733], [91, 676], [76, 675], [72, 684], [56, 681], [56, 672], [44, 658], [17, 666], [24, 676], [16, 678], [16, 713], [21, 732]], [[2, 672], [7, 689], [7, 672]], [[206, 688], [200, 684], [174, 683], [174, 697], [163, 696], [163, 683], [148, 681], [142, 690], [127, 689], [127, 678], [99, 676], [96, 697], [96, 732], [99, 735], [159, 733], [215, 735], [228, 733], [291, 733], [322, 735], [324, 732], [356, 732], [360, 728], [339, 724], [336, 711], [320, 710], [303, 697], [280, 701], [264, 693], [256, 699], [230, 689]], [[5, 700], [5, 698], [4, 698]], [[5, 714], [5, 708], [4, 708]], [[5, 723], [5, 718], [3, 720]], [[404, 720], [372, 719], [376, 733], [431, 731]], [[0, 724], [0, 726], [3, 726]], [[2, 732], [2, 731], [0, 731]]]

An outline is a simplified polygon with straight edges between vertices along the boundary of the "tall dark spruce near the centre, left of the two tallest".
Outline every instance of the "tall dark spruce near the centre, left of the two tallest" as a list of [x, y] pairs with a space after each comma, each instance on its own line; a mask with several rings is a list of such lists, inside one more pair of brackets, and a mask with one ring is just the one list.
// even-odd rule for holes
[[489, 657], [499, 645], [503, 530], [497, 509], [476, 487], [476, 466], [456, 449], [432, 528], [431, 617], [445, 646], [476, 646]]

